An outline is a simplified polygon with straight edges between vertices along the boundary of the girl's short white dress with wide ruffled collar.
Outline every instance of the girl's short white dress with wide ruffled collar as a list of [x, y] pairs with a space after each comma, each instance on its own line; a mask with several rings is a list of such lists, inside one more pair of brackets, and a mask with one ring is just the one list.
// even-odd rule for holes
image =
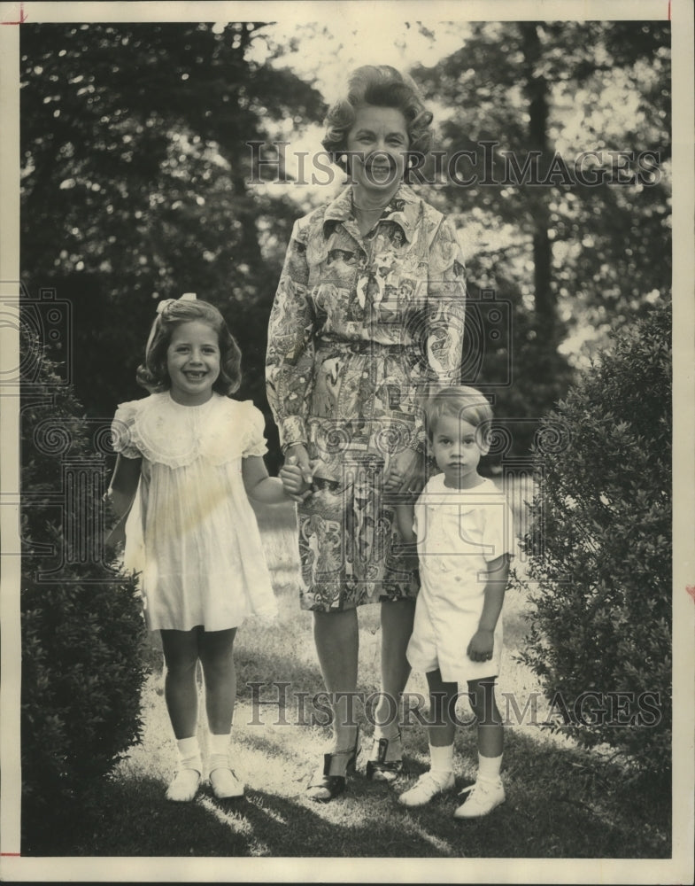
[[267, 451], [263, 429], [251, 400], [217, 393], [202, 406], [163, 392], [117, 409], [113, 448], [143, 459], [124, 562], [141, 573], [152, 631], [221, 631], [276, 613], [242, 478], [243, 457]]

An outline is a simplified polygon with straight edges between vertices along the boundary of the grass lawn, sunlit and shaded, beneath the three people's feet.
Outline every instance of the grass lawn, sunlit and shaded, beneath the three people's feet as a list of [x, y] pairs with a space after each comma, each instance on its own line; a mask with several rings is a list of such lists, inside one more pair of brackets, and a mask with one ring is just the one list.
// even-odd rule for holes
[[[278, 525], [260, 515], [280, 615], [273, 625], [247, 622], [237, 633], [238, 700], [233, 731], [236, 771], [246, 781], [241, 801], [220, 802], [204, 785], [191, 804], [170, 804], [165, 789], [175, 765], [174, 741], [162, 697], [161, 656], [151, 644], [152, 673], [143, 693], [142, 744], [130, 750], [112, 776], [95, 785], [59, 851], [34, 854], [177, 857], [393, 857], [620, 859], [670, 856], [670, 797], [636, 786], [606, 756], [577, 749], [539, 727], [506, 729], [506, 803], [488, 818], [452, 819], [455, 794], [420, 810], [398, 806], [398, 791], [428, 766], [424, 727], [404, 730], [410, 775], [396, 787], [368, 782], [364, 758], [344, 797], [329, 804], [305, 799], [307, 777], [325, 749], [329, 729], [297, 723], [291, 703], [283, 725], [277, 705], [262, 707], [256, 724], [252, 681], [284, 680], [311, 696], [323, 689], [313, 649], [311, 616], [297, 602], [292, 513]], [[500, 692], [537, 690], [534, 675], [514, 661], [525, 633], [524, 601], [508, 595], [506, 653]], [[359, 689], [378, 685], [378, 607], [360, 611]], [[413, 674], [408, 691], [425, 693]], [[202, 690], [201, 690], [202, 692]], [[271, 688], [263, 690], [271, 697]], [[202, 698], [201, 698], [202, 701]], [[465, 706], [462, 711], [465, 711]], [[371, 727], [358, 716], [365, 735]], [[259, 725], [258, 719], [261, 721]], [[201, 727], [202, 740], [205, 730]], [[456, 739], [459, 784], [475, 775], [475, 729]], [[28, 847], [31, 850], [31, 847]], [[33, 854], [28, 851], [26, 854]]]

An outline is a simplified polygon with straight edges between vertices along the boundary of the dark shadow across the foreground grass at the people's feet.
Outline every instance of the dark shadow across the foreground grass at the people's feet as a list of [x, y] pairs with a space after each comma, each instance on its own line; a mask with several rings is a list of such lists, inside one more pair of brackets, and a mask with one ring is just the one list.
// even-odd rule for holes
[[[467, 730], [457, 737], [459, 788], [470, 781], [473, 770], [473, 733]], [[245, 753], [276, 760], [283, 775], [296, 773], [297, 767], [286, 765], [285, 758], [291, 756], [286, 747], [261, 734], [252, 743], [253, 749]], [[72, 822], [72, 838], [50, 854], [475, 859], [670, 855], [668, 800], [639, 800], [617, 779], [617, 770], [587, 769], [582, 753], [548, 748], [512, 732], [506, 749], [506, 803], [487, 818], [462, 822], [452, 819], [458, 803], [454, 791], [420, 809], [398, 805], [399, 791], [426, 768], [426, 742], [420, 734], [407, 736], [406, 750], [410, 773], [396, 786], [367, 781], [359, 772], [346, 793], [328, 804], [303, 796], [304, 778], [292, 780], [292, 796], [282, 796], [261, 788], [259, 776], [253, 782], [258, 787], [251, 784], [246, 797], [229, 801], [216, 800], [204, 784], [190, 804], [167, 802], [159, 779], [117, 778], [86, 798], [81, 816]], [[645, 827], [650, 818], [660, 822], [660, 828]]]

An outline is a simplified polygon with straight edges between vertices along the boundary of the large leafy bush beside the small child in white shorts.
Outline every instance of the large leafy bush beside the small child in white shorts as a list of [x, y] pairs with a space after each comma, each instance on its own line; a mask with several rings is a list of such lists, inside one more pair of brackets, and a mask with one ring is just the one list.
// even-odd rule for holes
[[554, 696], [560, 728], [660, 776], [671, 745], [670, 323], [664, 304], [615, 334], [544, 419], [529, 574], [516, 579], [533, 603], [522, 659]]

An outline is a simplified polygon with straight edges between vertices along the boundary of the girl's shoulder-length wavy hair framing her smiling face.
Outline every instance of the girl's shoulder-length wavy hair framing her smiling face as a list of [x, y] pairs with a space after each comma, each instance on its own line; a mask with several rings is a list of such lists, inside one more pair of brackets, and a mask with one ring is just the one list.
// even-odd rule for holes
[[166, 371], [166, 351], [176, 327], [194, 321], [207, 323], [217, 333], [220, 375], [215, 379], [212, 390], [226, 397], [238, 390], [242, 382], [242, 352], [228, 330], [224, 317], [207, 301], [184, 299], [170, 299], [155, 317], [145, 348], [145, 360], [137, 369], [138, 385], [151, 393], [169, 389], [171, 379]]

